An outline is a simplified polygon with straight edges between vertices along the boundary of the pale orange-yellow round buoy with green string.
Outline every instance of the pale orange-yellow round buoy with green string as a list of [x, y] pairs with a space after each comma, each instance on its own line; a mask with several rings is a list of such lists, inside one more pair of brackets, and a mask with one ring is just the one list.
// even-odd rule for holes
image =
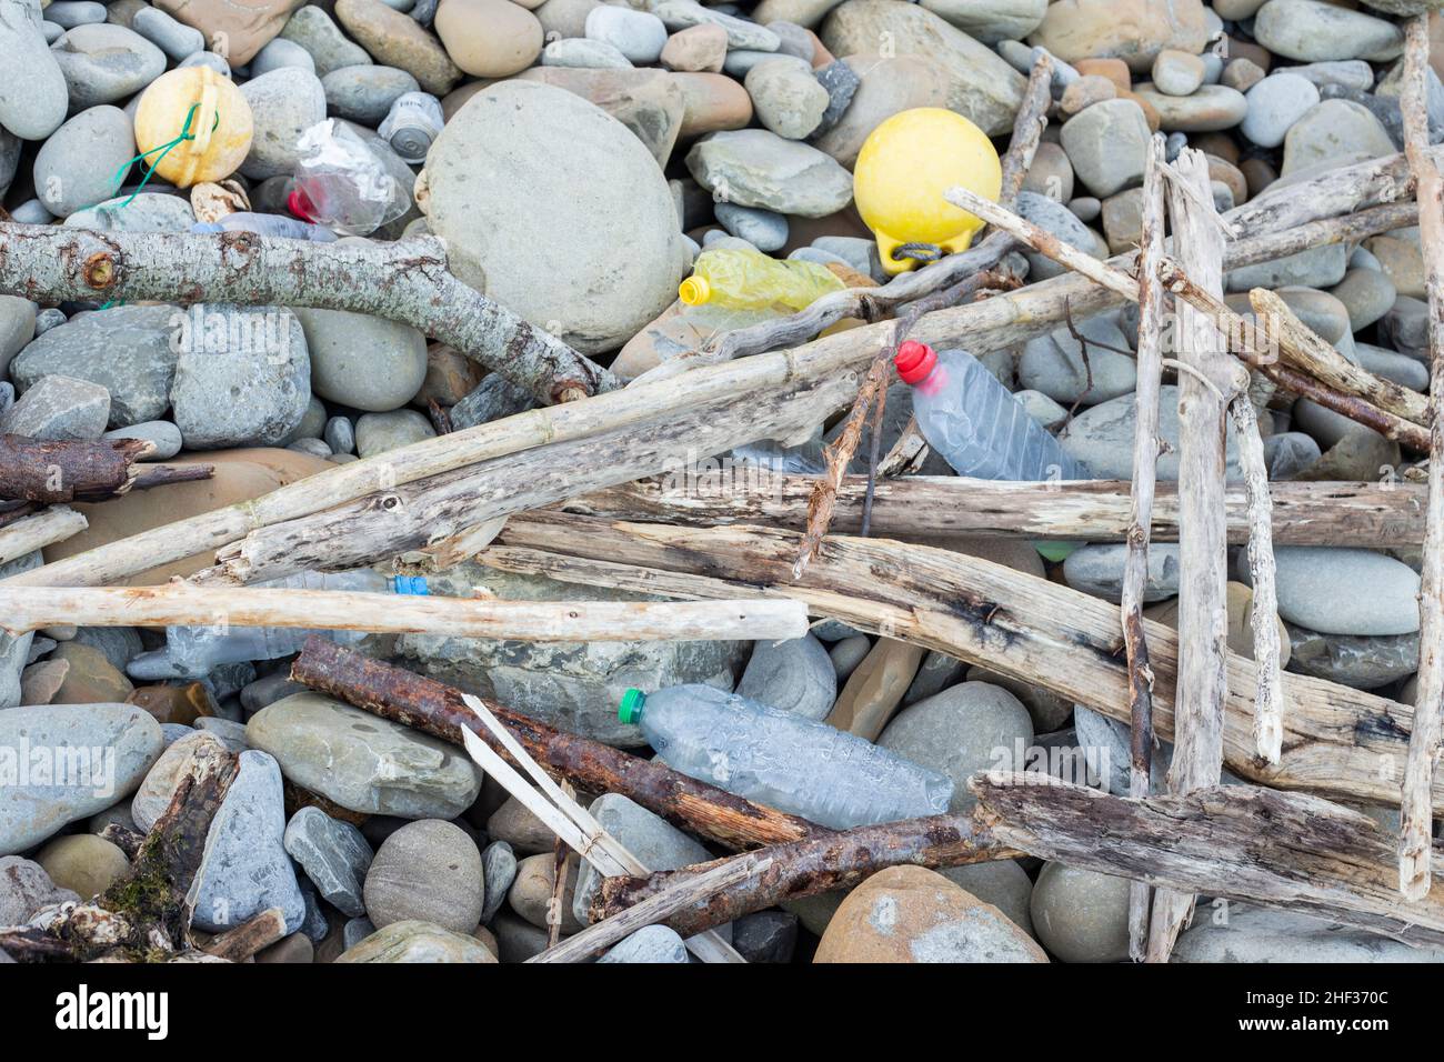
[[156, 176], [176, 188], [231, 176], [254, 131], [241, 90], [209, 66], [162, 74], [136, 107], [136, 147]]

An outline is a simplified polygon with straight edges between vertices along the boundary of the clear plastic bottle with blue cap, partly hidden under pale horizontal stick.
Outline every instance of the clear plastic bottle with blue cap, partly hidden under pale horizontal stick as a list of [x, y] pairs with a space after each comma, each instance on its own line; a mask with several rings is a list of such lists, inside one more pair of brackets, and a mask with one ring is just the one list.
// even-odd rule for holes
[[[370, 568], [349, 572], [297, 572], [257, 587], [284, 590], [344, 590], [365, 594], [427, 594], [426, 579], [416, 575], [381, 575]], [[360, 630], [310, 630], [303, 627], [166, 627], [166, 647], [142, 653], [126, 670], [137, 679], [201, 678], [222, 663], [276, 660], [300, 652], [306, 639], [321, 634], [341, 644], [365, 637]]]

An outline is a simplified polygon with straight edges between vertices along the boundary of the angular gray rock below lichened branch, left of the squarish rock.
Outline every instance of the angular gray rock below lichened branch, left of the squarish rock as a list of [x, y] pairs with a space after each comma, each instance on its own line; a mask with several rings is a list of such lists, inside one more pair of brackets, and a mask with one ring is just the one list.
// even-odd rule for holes
[[110, 428], [156, 420], [170, 406], [176, 371], [175, 306], [111, 306], [48, 329], [10, 366], [22, 393], [46, 376], [88, 380], [110, 392]]

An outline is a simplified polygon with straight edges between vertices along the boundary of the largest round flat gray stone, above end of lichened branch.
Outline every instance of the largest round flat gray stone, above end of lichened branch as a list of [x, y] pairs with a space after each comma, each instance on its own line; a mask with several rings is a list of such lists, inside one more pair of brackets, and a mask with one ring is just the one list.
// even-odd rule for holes
[[432, 144], [417, 201], [462, 280], [586, 354], [666, 309], [689, 264], [647, 147], [553, 85], [477, 92]]

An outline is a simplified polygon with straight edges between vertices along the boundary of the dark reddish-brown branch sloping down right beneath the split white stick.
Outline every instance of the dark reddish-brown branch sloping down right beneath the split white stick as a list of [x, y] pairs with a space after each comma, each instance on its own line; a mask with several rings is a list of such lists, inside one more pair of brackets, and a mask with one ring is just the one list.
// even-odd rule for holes
[[[325, 639], [306, 640], [305, 650], [292, 665], [292, 678], [452, 744], [462, 744], [461, 731], [469, 730], [505, 754], [504, 747], [498, 747], [495, 737], [466, 707], [459, 689], [352, 653]], [[495, 704], [490, 708], [527, 754], [578, 789], [624, 793], [643, 808], [719, 844], [748, 848], [833, 832], [690, 779], [661, 763], [553, 730]]]

